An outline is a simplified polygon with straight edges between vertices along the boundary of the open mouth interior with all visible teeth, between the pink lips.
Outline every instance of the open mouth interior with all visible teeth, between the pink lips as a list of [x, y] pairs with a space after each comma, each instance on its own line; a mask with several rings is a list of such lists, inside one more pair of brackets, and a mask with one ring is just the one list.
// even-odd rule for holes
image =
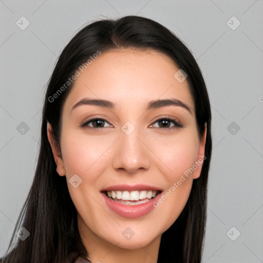
[[124, 205], [140, 205], [157, 197], [161, 190], [136, 190], [136, 191], [102, 191], [109, 199]]

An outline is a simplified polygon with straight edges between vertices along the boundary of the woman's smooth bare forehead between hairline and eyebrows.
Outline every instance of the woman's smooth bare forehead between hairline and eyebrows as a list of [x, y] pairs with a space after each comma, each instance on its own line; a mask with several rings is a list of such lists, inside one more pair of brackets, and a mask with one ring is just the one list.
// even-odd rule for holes
[[174, 77], [178, 70], [171, 58], [154, 50], [102, 52], [79, 71], [65, 104], [88, 97], [110, 100], [120, 108], [140, 107], [147, 101], [175, 98], [194, 112], [186, 80], [180, 83]]

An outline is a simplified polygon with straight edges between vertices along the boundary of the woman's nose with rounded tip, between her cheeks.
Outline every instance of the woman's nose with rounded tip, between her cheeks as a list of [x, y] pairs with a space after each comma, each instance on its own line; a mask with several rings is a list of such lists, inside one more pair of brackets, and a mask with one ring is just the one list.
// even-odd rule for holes
[[121, 132], [120, 138], [114, 147], [112, 167], [124, 170], [128, 174], [136, 173], [138, 170], [148, 170], [151, 166], [151, 153], [145, 146], [146, 142], [135, 130], [126, 135]]

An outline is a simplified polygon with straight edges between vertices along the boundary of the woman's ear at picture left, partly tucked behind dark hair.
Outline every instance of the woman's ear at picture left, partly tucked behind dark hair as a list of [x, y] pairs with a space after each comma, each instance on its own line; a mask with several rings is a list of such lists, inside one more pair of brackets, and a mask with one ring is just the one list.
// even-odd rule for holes
[[51, 124], [49, 122], [47, 123], [47, 137], [48, 137], [48, 141], [50, 143], [50, 146], [52, 148], [52, 153], [53, 153], [55, 163], [57, 164], [57, 170], [56, 171], [60, 176], [65, 176], [66, 171], [65, 171], [63, 160], [62, 160], [60, 147], [59, 147], [59, 145], [55, 145], [55, 143], [53, 142], [52, 127], [51, 127]]

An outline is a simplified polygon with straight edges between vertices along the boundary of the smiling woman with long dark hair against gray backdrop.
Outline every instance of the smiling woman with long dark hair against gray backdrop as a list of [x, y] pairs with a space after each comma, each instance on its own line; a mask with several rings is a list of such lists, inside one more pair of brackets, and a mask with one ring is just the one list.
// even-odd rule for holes
[[1, 262], [201, 262], [211, 149], [202, 74], [171, 31], [139, 16], [84, 27], [50, 78]]

